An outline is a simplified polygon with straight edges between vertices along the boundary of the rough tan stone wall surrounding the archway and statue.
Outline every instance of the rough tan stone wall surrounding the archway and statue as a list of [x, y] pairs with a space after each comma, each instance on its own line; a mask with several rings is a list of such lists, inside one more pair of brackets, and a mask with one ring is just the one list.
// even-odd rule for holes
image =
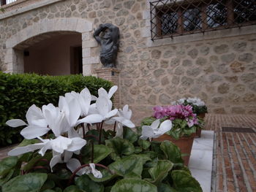
[[[119, 27], [121, 105], [132, 107], [135, 123], [151, 115], [154, 105], [167, 105], [184, 96], [200, 97], [209, 112], [256, 114], [256, 33], [246, 30], [243, 34], [241, 28], [233, 35], [220, 31], [208, 38], [200, 34], [196, 41], [187, 35], [183, 41], [174, 37], [168, 43], [153, 43], [146, 0], [59, 1], [1, 19], [1, 70], [7, 69], [8, 39], [42, 20], [63, 18], [83, 19], [93, 23], [93, 28], [100, 23]], [[95, 75], [102, 65], [92, 33], [82, 36], [87, 41], [83, 42], [83, 70]]]

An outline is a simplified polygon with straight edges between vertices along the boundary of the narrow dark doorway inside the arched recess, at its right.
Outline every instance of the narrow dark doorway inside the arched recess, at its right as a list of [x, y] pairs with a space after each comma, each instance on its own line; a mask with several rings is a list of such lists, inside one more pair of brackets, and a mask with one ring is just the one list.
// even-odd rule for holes
[[82, 46], [70, 47], [70, 59], [71, 74], [83, 74]]

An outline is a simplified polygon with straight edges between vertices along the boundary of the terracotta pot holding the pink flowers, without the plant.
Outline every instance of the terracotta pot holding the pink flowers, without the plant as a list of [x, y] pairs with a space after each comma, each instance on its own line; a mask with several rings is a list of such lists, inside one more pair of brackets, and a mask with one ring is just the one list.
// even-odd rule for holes
[[173, 142], [175, 145], [177, 145], [180, 148], [181, 153], [187, 154], [182, 156], [182, 159], [184, 160], [184, 165], [188, 166], [194, 138], [195, 138], [195, 134], [192, 134], [190, 137], [181, 137], [180, 139], [176, 140], [170, 135], [163, 134], [162, 136], [155, 138], [154, 140], [159, 142], [168, 140], [170, 142]]

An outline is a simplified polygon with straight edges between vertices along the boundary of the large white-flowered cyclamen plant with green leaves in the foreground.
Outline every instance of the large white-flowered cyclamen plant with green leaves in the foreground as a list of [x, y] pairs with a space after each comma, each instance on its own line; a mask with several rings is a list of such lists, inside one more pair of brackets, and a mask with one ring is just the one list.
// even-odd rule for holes
[[[1, 191], [201, 192], [176, 145], [132, 130], [127, 105], [112, 110], [116, 89], [100, 88], [98, 97], [88, 89], [66, 93], [59, 107], [32, 105], [27, 122], [8, 120], [9, 126], [26, 126], [20, 132], [25, 139], [0, 162]], [[105, 123], [113, 130], [105, 131]], [[171, 127], [170, 120], [157, 120], [154, 138]]]

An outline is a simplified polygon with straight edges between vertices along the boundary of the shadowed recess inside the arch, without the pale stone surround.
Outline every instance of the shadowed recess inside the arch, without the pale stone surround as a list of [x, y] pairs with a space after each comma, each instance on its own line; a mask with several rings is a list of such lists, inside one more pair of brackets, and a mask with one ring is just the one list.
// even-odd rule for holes
[[82, 36], [78, 32], [55, 31], [39, 34], [21, 42], [14, 49], [16, 55], [18, 53], [23, 56], [26, 73], [50, 75], [83, 73]]

